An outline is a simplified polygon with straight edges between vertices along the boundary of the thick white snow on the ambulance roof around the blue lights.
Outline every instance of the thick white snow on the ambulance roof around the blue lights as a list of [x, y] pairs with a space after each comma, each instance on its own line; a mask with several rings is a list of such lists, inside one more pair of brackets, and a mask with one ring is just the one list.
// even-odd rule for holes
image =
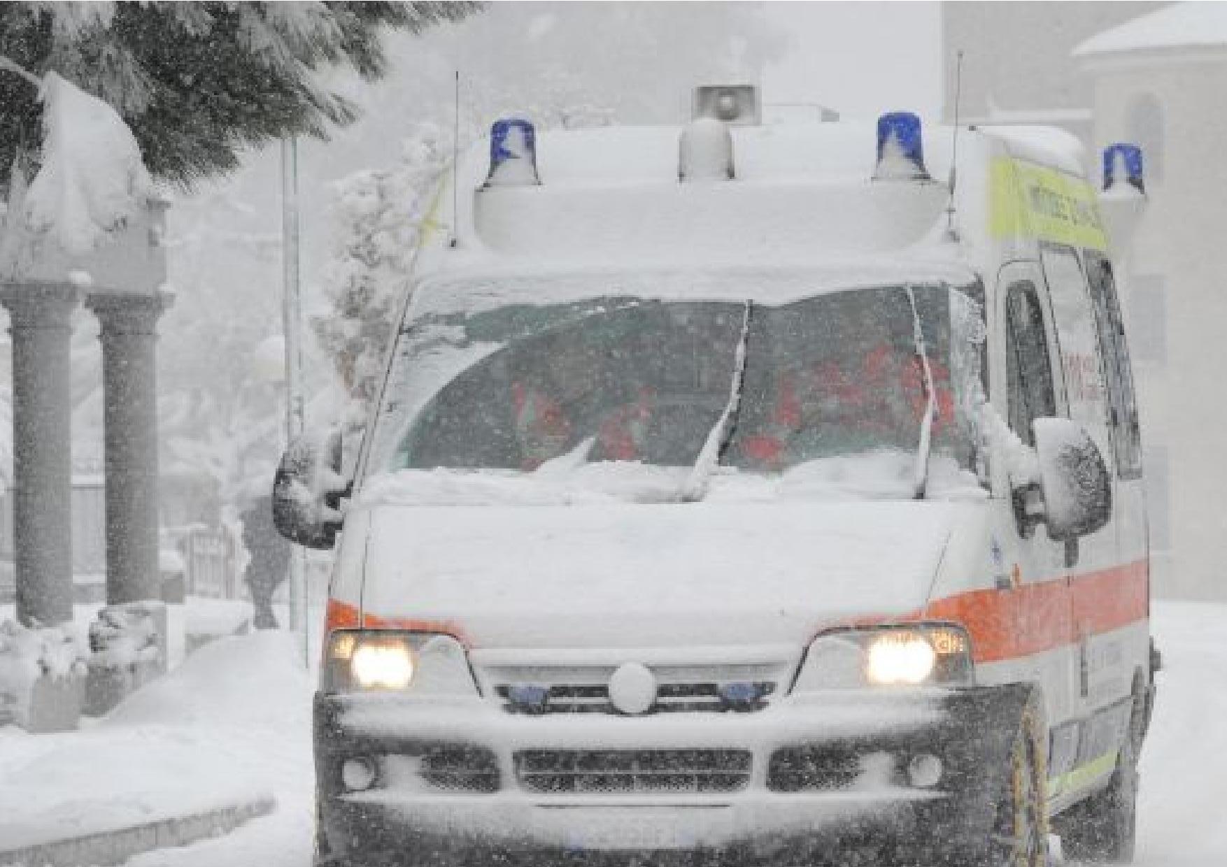
[[[679, 180], [682, 129], [542, 131], [540, 185], [483, 188], [487, 145], [479, 143], [461, 167], [461, 191], [475, 193], [460, 196], [458, 249], [425, 256], [418, 273], [482, 260], [812, 262], [940, 237], [946, 185], [875, 181], [872, 124], [733, 128], [735, 179], [694, 183]], [[936, 128], [925, 137], [934, 178], [946, 172], [948, 143], [940, 139]]]

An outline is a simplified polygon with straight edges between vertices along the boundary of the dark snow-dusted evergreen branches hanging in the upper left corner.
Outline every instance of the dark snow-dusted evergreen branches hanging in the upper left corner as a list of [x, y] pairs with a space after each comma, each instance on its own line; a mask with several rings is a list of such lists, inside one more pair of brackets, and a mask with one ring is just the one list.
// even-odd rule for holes
[[[382, 27], [455, 21], [467, 2], [6, 2], [0, 56], [112, 105], [145, 164], [179, 183], [233, 170], [244, 147], [326, 137], [357, 116], [323, 72], [385, 70]], [[39, 94], [0, 72], [0, 166], [37, 163]], [[6, 184], [6, 181], [4, 181]]]

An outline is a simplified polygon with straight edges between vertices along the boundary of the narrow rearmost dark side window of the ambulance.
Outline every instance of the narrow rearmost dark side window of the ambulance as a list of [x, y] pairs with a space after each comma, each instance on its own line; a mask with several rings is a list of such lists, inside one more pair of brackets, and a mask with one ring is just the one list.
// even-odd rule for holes
[[1087, 250], [1085, 255], [1091, 300], [1094, 303], [1099, 340], [1108, 365], [1108, 400], [1112, 407], [1112, 441], [1117, 453], [1117, 467], [1121, 476], [1135, 476], [1141, 472], [1141, 429], [1117, 283], [1107, 256], [1094, 250]]

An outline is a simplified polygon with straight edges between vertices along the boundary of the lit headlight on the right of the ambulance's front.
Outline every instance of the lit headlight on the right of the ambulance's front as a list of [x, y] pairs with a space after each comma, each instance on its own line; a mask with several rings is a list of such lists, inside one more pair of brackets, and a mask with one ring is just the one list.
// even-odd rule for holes
[[887, 686], [963, 686], [974, 678], [971, 641], [960, 627], [836, 629], [805, 654], [794, 692]]

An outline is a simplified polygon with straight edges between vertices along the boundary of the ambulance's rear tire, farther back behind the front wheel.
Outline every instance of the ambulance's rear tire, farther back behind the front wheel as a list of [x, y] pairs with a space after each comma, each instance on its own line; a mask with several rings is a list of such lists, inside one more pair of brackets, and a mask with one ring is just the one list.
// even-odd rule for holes
[[1137, 759], [1125, 738], [1108, 787], [1069, 811], [1061, 847], [1075, 861], [1128, 865], [1137, 833]]

